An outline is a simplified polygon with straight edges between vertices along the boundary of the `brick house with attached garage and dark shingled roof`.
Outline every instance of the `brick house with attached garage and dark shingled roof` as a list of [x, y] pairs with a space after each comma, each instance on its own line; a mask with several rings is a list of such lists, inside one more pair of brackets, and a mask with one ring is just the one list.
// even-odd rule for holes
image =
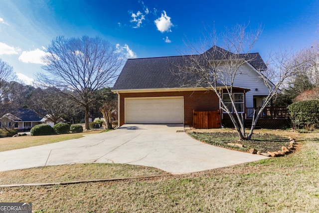
[[[208, 50], [209, 51], [209, 50]], [[242, 113], [246, 107], [257, 107], [268, 95], [260, 79], [260, 70], [266, 65], [259, 53], [249, 54], [253, 60], [242, 65], [246, 70], [236, 79], [234, 99]], [[173, 64], [187, 56], [169, 56], [128, 59], [114, 87], [118, 94], [119, 125], [130, 123], [182, 123], [193, 125], [193, 111], [218, 111], [220, 100], [204, 87], [182, 86], [173, 75]], [[192, 80], [192, 79], [190, 79]], [[220, 92], [225, 86], [220, 85]], [[226, 96], [225, 96], [226, 98]], [[223, 113], [220, 112], [221, 118]]]

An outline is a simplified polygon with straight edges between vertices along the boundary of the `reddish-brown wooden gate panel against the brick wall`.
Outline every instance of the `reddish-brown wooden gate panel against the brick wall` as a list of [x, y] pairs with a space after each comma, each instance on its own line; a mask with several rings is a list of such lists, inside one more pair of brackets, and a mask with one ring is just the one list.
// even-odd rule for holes
[[220, 111], [196, 112], [193, 110], [193, 128], [211, 129], [221, 127]]

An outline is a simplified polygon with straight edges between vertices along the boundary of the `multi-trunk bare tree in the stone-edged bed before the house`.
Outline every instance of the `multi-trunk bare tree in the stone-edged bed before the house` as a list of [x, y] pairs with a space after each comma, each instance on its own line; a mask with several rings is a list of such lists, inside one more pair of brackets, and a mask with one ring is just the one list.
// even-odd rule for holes
[[[237, 25], [232, 29], [226, 29], [226, 32], [221, 36], [217, 36], [213, 30], [212, 33], [205, 37], [204, 44], [201, 44], [199, 48], [194, 43], [188, 44], [187, 47], [191, 49], [192, 54], [183, 56], [183, 60], [180, 63], [174, 64], [177, 67], [175, 70], [178, 71], [173, 71], [173, 74], [181, 79], [183, 86], [204, 87], [216, 93], [221, 103], [221, 109], [229, 115], [240, 140], [251, 139], [259, 116], [271, 99], [279, 92], [279, 88], [285, 79], [291, 75], [290, 67], [285, 61], [277, 60], [276, 65], [278, 66], [273, 72], [273, 74], [276, 74], [274, 79], [276, 84], [266, 77], [268, 70], [257, 70], [259, 78], [263, 79], [269, 90], [269, 95], [260, 110], [254, 113], [252, 126], [247, 135], [244, 126], [244, 116], [239, 113], [238, 105], [236, 105], [233, 98], [227, 98], [227, 101], [224, 100], [220, 88], [225, 88], [226, 92], [224, 94], [226, 93], [228, 97], [233, 97], [237, 78], [241, 75], [246, 75], [243, 66], [256, 59], [256, 55], [250, 54], [250, 51], [261, 31], [259, 27], [255, 32], [247, 32], [246, 25]], [[221, 37], [223, 48], [217, 46], [219, 37]], [[211, 48], [205, 51], [207, 46]]]

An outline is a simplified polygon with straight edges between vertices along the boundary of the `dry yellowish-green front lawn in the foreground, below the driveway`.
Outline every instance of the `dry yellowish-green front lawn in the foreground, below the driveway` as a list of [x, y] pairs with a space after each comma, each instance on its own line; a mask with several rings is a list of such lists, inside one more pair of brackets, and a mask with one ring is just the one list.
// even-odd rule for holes
[[[32, 202], [35, 213], [318, 212], [319, 133], [272, 131], [272, 134], [293, 135], [301, 148], [281, 158], [179, 176], [0, 188], [0, 202]], [[35, 174], [38, 175], [32, 178]], [[0, 172], [0, 180], [4, 184], [139, 174], [162, 172], [116, 164], [64, 165]]]

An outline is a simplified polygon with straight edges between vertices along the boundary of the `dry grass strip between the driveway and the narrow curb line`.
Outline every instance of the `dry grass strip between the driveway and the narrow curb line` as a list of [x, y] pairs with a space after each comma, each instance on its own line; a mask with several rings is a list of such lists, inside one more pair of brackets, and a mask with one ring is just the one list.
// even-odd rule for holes
[[152, 167], [128, 164], [73, 164], [0, 172], [1, 185], [56, 183], [167, 174]]

